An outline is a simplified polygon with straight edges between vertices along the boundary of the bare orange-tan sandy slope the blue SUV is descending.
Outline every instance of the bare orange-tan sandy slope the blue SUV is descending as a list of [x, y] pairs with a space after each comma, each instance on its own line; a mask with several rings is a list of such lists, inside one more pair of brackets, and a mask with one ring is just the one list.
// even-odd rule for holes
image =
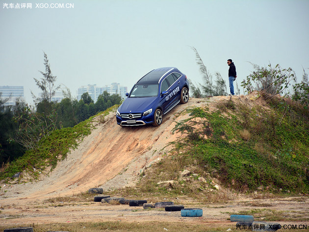
[[[0, 202], [9, 198], [38, 199], [68, 196], [93, 187], [119, 188], [133, 184], [145, 166], [151, 165], [169, 150], [176, 140], [172, 133], [175, 117], [184, 108], [205, 105], [205, 101], [190, 99], [177, 105], [163, 118], [160, 127], [122, 128], [116, 124], [115, 112], [106, 116], [104, 124], [97, 123], [91, 135], [81, 142], [67, 158], [40, 181], [1, 186]], [[118, 175], [119, 174], [119, 175]]]

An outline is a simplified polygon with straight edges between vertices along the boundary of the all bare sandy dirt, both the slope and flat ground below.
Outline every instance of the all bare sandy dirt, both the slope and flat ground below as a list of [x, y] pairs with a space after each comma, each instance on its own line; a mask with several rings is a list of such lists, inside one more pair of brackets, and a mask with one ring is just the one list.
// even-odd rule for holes
[[[121, 128], [116, 124], [115, 112], [112, 112], [106, 116], [104, 124], [95, 123], [96, 129], [91, 135], [84, 138], [78, 148], [51, 173], [42, 175], [39, 181], [1, 183], [0, 225], [18, 227], [32, 223], [172, 221], [226, 225], [235, 230], [236, 223], [228, 220], [230, 215], [255, 209], [261, 213], [260, 219], [279, 213], [281, 219], [286, 215], [285, 224], [307, 224], [309, 230], [309, 200], [301, 196], [283, 199], [235, 196], [233, 201], [225, 204], [200, 204], [181, 196], [175, 199], [185, 207], [203, 208], [203, 217], [198, 218], [184, 218], [180, 212], [166, 212], [164, 209], [146, 210], [142, 207], [96, 203], [92, 197], [82, 201], [70, 199], [89, 188], [102, 187], [107, 191], [134, 186], [143, 169], [159, 160], [170, 149], [169, 142], [180, 137], [172, 129], [175, 121], [188, 117], [187, 114], [180, 115], [183, 109], [190, 106], [211, 108], [214, 102], [229, 98], [190, 99], [187, 104], [178, 105], [165, 115], [160, 127]], [[234, 98], [250, 104], [257, 96]], [[61, 198], [64, 200], [59, 200]]]

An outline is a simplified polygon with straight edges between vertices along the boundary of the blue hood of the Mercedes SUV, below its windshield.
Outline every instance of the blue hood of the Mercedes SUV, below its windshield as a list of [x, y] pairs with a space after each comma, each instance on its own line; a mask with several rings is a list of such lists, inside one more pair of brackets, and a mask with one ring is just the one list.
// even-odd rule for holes
[[124, 103], [118, 108], [120, 113], [137, 113], [137, 112], [144, 112], [150, 109], [154, 102], [156, 101], [157, 97], [150, 97], [150, 98], [127, 98]]

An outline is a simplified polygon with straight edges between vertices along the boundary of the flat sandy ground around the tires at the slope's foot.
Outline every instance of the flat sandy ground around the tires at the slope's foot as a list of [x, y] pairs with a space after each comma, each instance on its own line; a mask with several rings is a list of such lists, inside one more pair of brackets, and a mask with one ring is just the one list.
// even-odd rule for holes
[[[162, 199], [163, 200], [163, 199]], [[0, 225], [2, 227], [21, 227], [31, 224], [76, 223], [76, 222], [177, 222], [189, 224], [209, 224], [212, 227], [231, 228], [236, 231], [236, 222], [229, 220], [232, 214], [242, 214], [249, 210], [259, 212], [259, 221], [269, 216], [281, 217], [281, 225], [307, 225], [309, 231], [309, 200], [304, 197], [281, 199], [252, 199], [239, 197], [225, 204], [199, 204], [180, 201], [186, 208], [203, 209], [203, 217], [181, 217], [180, 212], [166, 212], [164, 208], [143, 209], [128, 205], [111, 205], [86, 201], [75, 201], [66, 198], [63, 202], [15, 199], [1, 203]], [[284, 219], [286, 217], [286, 219]], [[266, 220], [268, 221], [268, 220]], [[286, 230], [279, 230], [286, 231]], [[306, 230], [302, 230], [306, 231]]]

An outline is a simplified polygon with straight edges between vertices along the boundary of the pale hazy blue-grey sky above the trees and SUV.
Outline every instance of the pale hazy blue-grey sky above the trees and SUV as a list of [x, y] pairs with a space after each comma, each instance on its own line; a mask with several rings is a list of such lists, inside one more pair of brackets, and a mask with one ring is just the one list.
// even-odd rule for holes
[[[192, 46], [227, 85], [230, 58], [238, 85], [253, 71], [249, 62], [291, 67], [298, 80], [303, 67], [309, 73], [309, 0], [0, 2], [0, 85], [23, 85], [27, 102], [30, 90], [39, 92], [33, 77], [45, 71], [43, 52], [56, 83], [73, 95], [87, 84], [130, 89], [152, 69], [168, 66], [202, 82]], [[71, 7], [56, 8], [62, 4]]]

